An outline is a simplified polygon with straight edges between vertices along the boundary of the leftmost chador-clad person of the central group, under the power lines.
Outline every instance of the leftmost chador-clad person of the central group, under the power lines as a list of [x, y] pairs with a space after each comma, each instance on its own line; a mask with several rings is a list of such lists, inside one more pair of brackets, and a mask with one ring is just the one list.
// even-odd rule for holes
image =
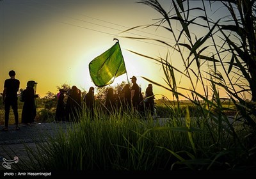
[[57, 94], [58, 103], [56, 107], [55, 121], [65, 121], [65, 103], [64, 103], [64, 93], [65, 89], [60, 89]]

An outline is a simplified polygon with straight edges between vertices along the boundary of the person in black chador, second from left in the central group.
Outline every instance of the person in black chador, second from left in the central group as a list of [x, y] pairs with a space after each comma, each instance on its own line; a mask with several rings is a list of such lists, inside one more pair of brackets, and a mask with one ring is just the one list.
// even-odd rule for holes
[[66, 104], [65, 116], [67, 121], [78, 121], [79, 114], [81, 112], [81, 90], [76, 86], [67, 93], [68, 99]]

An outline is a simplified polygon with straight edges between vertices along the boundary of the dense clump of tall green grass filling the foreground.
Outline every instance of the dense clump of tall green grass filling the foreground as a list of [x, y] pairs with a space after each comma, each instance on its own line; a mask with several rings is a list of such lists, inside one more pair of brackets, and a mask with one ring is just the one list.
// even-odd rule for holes
[[[185, 118], [166, 121], [119, 112], [96, 112], [92, 120], [83, 111], [79, 122], [70, 125], [67, 131], [60, 128], [56, 137], [44, 136], [36, 149], [26, 146], [29, 159], [20, 159], [15, 169], [159, 171], [250, 165], [246, 150], [235, 148], [232, 132], [190, 116], [188, 109]], [[239, 127], [235, 132], [241, 137], [246, 130]]]

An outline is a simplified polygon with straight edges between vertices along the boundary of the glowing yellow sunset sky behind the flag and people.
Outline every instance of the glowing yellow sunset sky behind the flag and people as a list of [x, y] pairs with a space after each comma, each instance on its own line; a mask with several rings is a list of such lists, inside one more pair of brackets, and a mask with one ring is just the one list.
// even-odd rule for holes
[[[159, 2], [170, 7], [170, 1]], [[9, 78], [8, 72], [15, 70], [20, 88], [26, 88], [30, 80], [38, 82], [36, 93], [40, 97], [48, 91], [58, 93], [56, 86], [64, 83], [88, 91], [94, 86], [88, 64], [115, 44], [113, 38], [120, 42], [128, 77], [135, 75], [143, 91], [149, 82], [141, 76], [164, 84], [160, 65], [128, 50], [164, 58], [167, 48], [121, 37], [157, 38], [172, 43], [168, 34], [152, 28], [121, 33], [131, 27], [152, 24], [160, 17], [156, 10], [131, 0], [1, 1], [0, 90]], [[127, 81], [127, 75], [117, 77], [112, 85]], [[163, 88], [154, 86], [153, 90], [171, 99], [172, 94]]]

